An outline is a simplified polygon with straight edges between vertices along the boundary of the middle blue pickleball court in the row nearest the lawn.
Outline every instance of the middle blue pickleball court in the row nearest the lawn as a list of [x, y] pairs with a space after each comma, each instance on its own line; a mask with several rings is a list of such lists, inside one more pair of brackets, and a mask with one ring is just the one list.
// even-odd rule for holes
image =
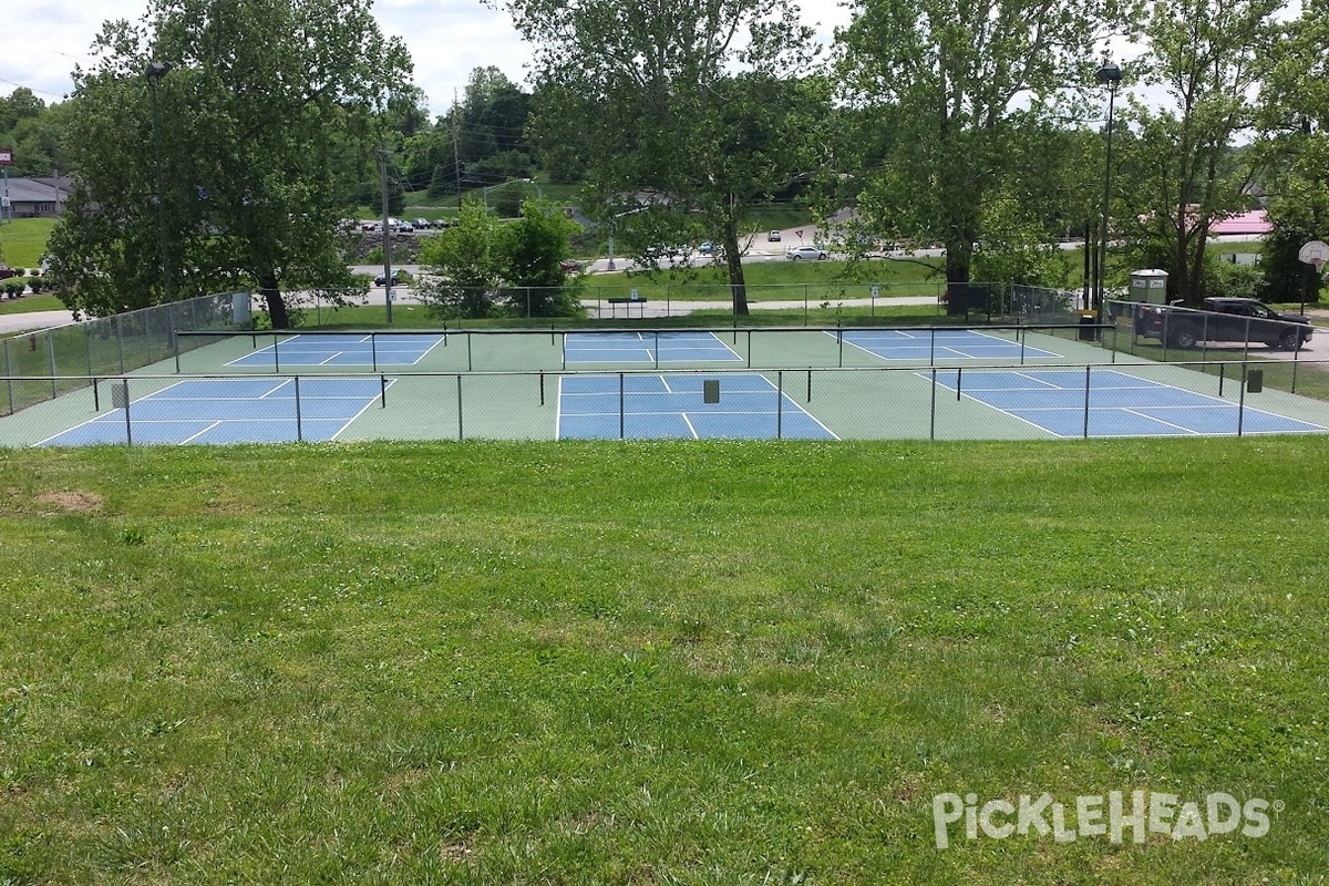
[[706, 381], [704, 375], [566, 376], [558, 389], [558, 437], [836, 438], [758, 373], [710, 379], [719, 384], [719, 402], [704, 401]]

